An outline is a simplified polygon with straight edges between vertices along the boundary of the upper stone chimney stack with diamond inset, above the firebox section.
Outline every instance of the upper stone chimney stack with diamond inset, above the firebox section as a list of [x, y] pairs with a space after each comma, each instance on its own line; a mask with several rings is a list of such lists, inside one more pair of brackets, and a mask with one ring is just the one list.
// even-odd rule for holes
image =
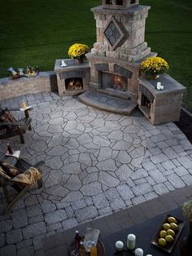
[[103, 6], [92, 8], [97, 28], [92, 53], [129, 62], [149, 55], [151, 48], [145, 42], [149, 9], [139, 6], [139, 0], [103, 0]]

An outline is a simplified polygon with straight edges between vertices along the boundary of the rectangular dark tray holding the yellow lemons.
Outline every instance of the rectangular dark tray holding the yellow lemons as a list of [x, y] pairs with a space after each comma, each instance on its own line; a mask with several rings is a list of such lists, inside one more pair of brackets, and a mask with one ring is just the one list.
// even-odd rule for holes
[[[164, 229], [164, 228], [162, 227], [162, 226], [164, 225], [164, 223], [168, 223], [168, 217], [174, 217], [174, 218], [176, 218], [178, 230], [175, 231], [175, 234], [176, 234], [176, 235], [175, 235], [174, 241], [172, 241], [172, 243], [167, 243], [166, 246], [161, 246], [161, 245], [158, 244], [158, 240], [159, 240], [159, 238], [160, 238], [159, 232], [160, 232], [162, 229]], [[177, 218], [177, 217], [175, 217], [175, 216], [173, 216], [173, 215], [168, 214], [167, 217], [164, 218], [164, 221], [161, 223], [161, 225], [160, 225], [158, 231], [156, 232], [154, 238], [152, 239], [151, 243], [152, 243], [153, 245], [159, 247], [159, 249], [163, 249], [164, 251], [166, 251], [167, 253], [170, 254], [170, 253], [172, 252], [172, 249], [173, 249], [174, 246], [176, 245], [177, 240], [178, 240], [178, 237], [180, 236], [181, 231], [182, 231], [182, 229], [183, 229], [184, 226], [185, 226], [185, 222], [184, 222], [183, 220], [181, 220], [180, 218]]]

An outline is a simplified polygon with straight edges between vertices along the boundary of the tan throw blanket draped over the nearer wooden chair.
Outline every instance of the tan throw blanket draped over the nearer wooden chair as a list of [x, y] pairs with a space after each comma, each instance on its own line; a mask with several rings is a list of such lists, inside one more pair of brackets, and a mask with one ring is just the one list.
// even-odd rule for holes
[[23, 183], [24, 185], [33, 185], [41, 178], [41, 172], [34, 167], [30, 167], [28, 170], [25, 170], [23, 174], [16, 175], [11, 181], [17, 183]]

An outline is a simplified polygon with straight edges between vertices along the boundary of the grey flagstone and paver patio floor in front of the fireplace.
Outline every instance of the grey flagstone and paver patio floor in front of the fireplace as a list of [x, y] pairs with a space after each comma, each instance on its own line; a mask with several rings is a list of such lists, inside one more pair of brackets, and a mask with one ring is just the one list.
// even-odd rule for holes
[[[0, 255], [43, 255], [41, 238], [192, 184], [192, 145], [173, 123], [152, 126], [90, 108], [54, 93], [1, 102], [33, 105], [33, 131], [25, 144], [7, 141], [21, 157], [44, 160], [44, 188], [29, 192], [10, 215], [0, 205]], [[20, 115], [20, 113], [19, 113]]]

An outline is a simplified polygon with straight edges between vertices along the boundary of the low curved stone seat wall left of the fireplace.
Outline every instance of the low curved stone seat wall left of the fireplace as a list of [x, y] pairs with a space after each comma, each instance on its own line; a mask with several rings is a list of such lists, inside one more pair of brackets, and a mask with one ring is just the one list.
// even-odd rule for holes
[[54, 71], [40, 72], [37, 77], [20, 77], [18, 79], [4, 77], [0, 79], [0, 100], [46, 91], [58, 91]]

